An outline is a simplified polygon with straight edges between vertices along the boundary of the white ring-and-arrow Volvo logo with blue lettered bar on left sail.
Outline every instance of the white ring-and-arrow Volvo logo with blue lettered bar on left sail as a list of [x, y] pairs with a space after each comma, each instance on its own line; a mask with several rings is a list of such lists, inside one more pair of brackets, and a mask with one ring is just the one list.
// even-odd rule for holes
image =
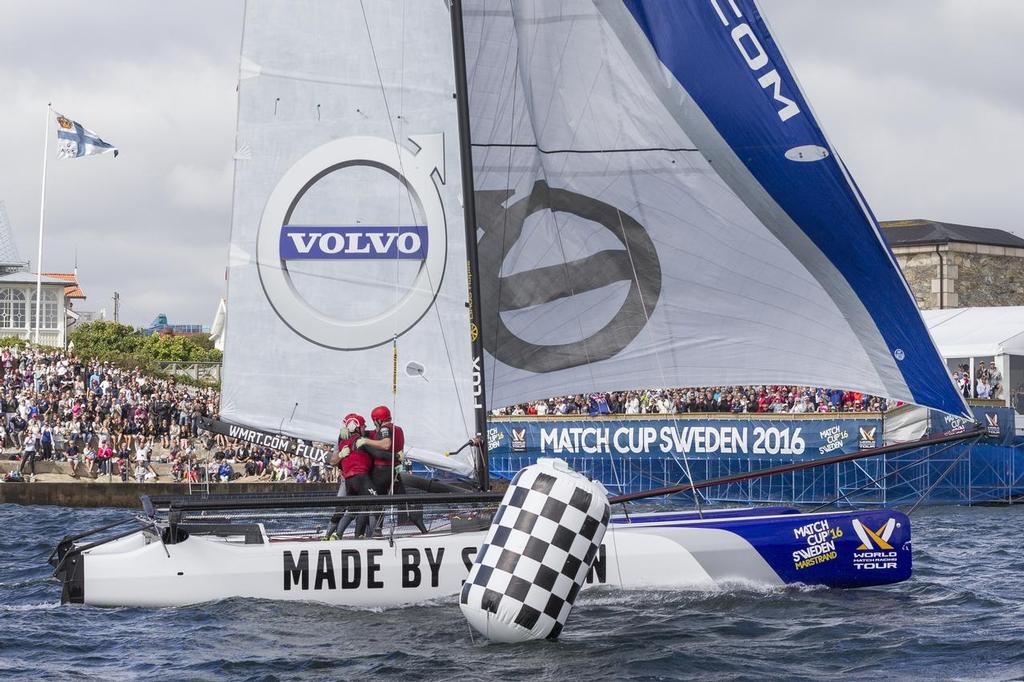
[[[444, 209], [432, 177], [436, 173], [444, 182], [444, 138], [436, 134], [410, 140], [417, 153], [380, 137], [332, 140], [300, 159], [270, 193], [256, 244], [260, 282], [281, 319], [312, 343], [339, 350], [381, 345], [412, 329], [433, 305], [447, 257]], [[425, 224], [291, 223], [299, 201], [317, 181], [353, 166], [382, 170], [404, 185]], [[335, 318], [310, 305], [292, 282], [288, 265], [290, 261], [331, 260], [344, 267], [347, 261], [373, 259], [421, 264], [400, 300], [372, 317], [355, 321]]]

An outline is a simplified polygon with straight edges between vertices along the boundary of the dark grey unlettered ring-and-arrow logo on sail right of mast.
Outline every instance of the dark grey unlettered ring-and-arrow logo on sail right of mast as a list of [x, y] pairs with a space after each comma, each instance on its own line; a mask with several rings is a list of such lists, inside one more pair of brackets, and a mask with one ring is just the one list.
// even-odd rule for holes
[[[647, 325], [662, 293], [657, 250], [643, 225], [624, 211], [541, 180], [528, 197], [505, 206], [508, 190], [479, 190], [476, 210], [479, 240], [483, 347], [497, 359], [527, 372], [546, 373], [616, 355]], [[539, 211], [568, 213], [607, 229], [623, 249], [605, 250], [579, 260], [539, 267], [502, 278], [502, 263], [522, 235], [526, 219]], [[604, 327], [571, 343], [539, 344], [508, 328], [502, 313], [540, 306], [557, 299], [629, 282], [626, 300]]]

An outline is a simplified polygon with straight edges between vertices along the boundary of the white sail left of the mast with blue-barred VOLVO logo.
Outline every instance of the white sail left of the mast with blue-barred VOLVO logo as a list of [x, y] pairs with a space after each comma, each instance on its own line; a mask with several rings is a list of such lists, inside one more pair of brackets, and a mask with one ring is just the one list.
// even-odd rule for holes
[[223, 419], [330, 442], [386, 404], [472, 470], [453, 63], [442, 2], [247, 4]]

